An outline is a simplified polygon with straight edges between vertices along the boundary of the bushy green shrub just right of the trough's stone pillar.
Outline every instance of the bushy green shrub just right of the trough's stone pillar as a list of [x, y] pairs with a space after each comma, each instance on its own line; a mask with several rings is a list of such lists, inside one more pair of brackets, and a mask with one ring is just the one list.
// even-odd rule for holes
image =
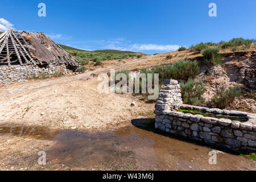
[[204, 99], [201, 95], [207, 90], [201, 80], [196, 81], [188, 79], [187, 82], [180, 85], [182, 99], [185, 104], [197, 105], [199, 102], [203, 104]]

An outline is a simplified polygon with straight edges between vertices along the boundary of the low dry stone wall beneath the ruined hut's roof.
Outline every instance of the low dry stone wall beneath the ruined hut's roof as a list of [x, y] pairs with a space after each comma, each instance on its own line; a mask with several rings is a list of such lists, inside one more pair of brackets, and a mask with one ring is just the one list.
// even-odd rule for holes
[[38, 65], [0, 65], [0, 84], [13, 81], [24, 81], [27, 78], [52, 77], [56, 74], [71, 73], [64, 64], [48, 64], [46, 68]]

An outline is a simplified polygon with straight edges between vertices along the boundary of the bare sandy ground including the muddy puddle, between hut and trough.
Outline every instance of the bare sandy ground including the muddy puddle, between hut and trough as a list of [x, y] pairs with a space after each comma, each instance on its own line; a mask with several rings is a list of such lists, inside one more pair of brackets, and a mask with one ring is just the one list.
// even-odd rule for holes
[[[174, 57], [166, 59], [169, 54]], [[174, 51], [104, 61], [79, 75], [0, 85], [0, 169], [256, 170], [253, 160], [229, 153], [209, 165], [210, 148], [131, 125], [132, 119], [154, 118], [154, 103], [97, 92], [93, 74], [110, 68], [136, 71], [200, 56]], [[38, 164], [38, 151], [47, 152], [46, 166]]]

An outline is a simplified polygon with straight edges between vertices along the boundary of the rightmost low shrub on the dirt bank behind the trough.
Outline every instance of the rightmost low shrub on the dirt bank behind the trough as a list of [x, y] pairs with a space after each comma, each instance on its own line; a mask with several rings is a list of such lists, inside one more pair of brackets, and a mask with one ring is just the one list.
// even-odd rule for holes
[[220, 109], [224, 109], [226, 106], [231, 104], [234, 99], [240, 96], [241, 90], [238, 86], [230, 86], [229, 89], [225, 90], [224, 86], [221, 86], [216, 90], [212, 98], [212, 102], [215, 106]]

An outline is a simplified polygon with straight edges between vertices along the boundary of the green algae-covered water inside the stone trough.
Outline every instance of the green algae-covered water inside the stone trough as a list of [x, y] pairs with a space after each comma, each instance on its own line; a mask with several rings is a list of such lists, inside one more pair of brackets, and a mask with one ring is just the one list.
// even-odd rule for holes
[[204, 111], [200, 111], [200, 110], [187, 110], [187, 109], [180, 109], [179, 110], [182, 113], [190, 113], [193, 115], [196, 114], [201, 114], [204, 117], [212, 117], [212, 118], [226, 118], [226, 119], [230, 119], [232, 121], [240, 121], [240, 122], [246, 122], [248, 120], [248, 117], [237, 117], [237, 116], [232, 116], [232, 115], [223, 115], [223, 114], [213, 114], [213, 113], [207, 113]]

